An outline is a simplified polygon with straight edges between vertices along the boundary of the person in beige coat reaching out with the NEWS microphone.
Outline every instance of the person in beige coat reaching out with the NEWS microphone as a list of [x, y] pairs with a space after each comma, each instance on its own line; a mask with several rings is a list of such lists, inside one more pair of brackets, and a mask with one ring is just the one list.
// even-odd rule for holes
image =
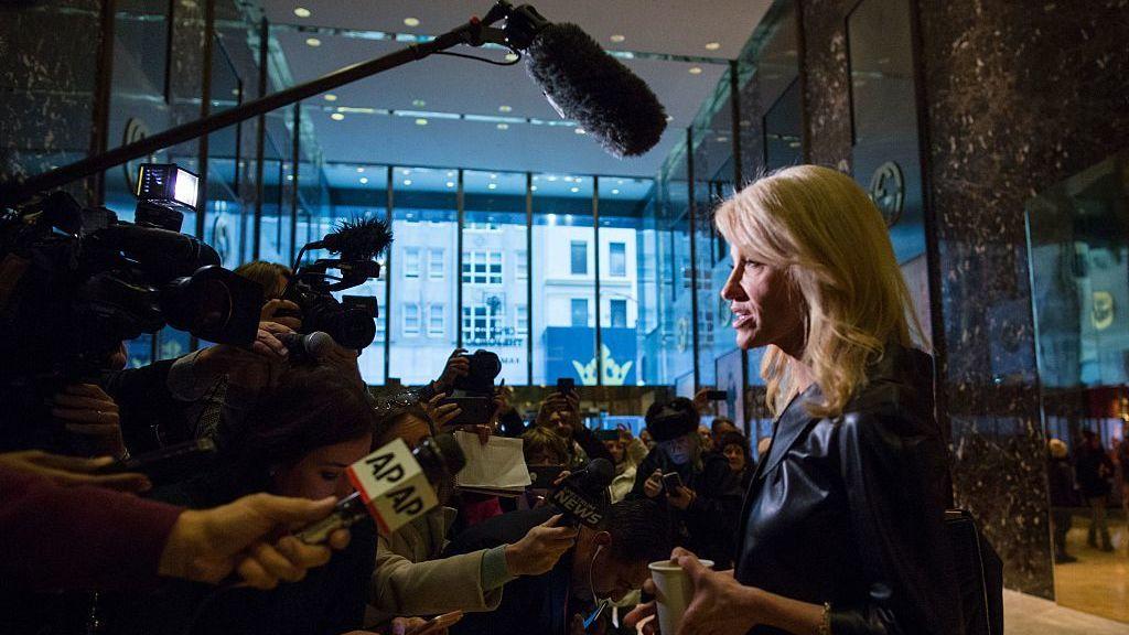
[[[380, 417], [377, 445], [394, 438], [415, 446], [434, 433], [418, 406], [393, 406]], [[379, 536], [376, 569], [369, 588], [366, 624], [396, 615], [432, 615], [453, 610], [490, 611], [501, 602], [504, 585], [552, 568], [576, 531], [544, 522], [513, 543], [443, 557], [455, 510], [440, 506], [392, 536]]]

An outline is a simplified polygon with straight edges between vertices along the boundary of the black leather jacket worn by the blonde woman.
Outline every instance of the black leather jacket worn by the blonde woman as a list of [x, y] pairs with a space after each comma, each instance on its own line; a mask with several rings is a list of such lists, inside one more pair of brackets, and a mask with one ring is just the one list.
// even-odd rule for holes
[[835, 635], [963, 632], [931, 368], [887, 346], [842, 416], [808, 414], [816, 385], [793, 400], [745, 495], [737, 581], [831, 602]]

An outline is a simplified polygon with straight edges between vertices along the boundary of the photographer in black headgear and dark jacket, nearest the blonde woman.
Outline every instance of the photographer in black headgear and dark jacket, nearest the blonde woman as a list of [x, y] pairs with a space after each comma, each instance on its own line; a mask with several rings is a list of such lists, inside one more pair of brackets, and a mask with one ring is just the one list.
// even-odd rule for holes
[[703, 451], [698, 420], [685, 398], [648, 408], [647, 429], [658, 445], [639, 464], [628, 498], [668, 510], [675, 543], [706, 554], [721, 569], [733, 558], [742, 492], [725, 456]]

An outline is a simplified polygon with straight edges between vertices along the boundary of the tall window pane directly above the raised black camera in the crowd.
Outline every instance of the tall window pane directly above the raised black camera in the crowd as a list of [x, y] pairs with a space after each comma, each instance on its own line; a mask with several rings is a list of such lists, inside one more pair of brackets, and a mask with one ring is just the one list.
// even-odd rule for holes
[[[516, 172], [463, 172], [463, 346], [489, 348], [501, 360], [498, 381], [530, 383], [528, 329], [514, 325], [516, 306], [528, 306], [526, 176]], [[473, 229], [473, 230], [472, 230]], [[518, 268], [525, 269], [520, 278]], [[514, 271], [513, 273], [510, 271]]]

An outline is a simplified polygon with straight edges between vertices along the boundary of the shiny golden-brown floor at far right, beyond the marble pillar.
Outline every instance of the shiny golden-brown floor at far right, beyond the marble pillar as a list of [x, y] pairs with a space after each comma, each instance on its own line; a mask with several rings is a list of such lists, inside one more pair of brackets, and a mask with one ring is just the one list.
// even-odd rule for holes
[[1100, 551], [1086, 546], [1089, 519], [1075, 514], [1067, 533], [1067, 553], [1078, 562], [1054, 566], [1054, 595], [1064, 607], [1129, 627], [1129, 534], [1120, 514], [1111, 517], [1109, 525], [1114, 550]]

